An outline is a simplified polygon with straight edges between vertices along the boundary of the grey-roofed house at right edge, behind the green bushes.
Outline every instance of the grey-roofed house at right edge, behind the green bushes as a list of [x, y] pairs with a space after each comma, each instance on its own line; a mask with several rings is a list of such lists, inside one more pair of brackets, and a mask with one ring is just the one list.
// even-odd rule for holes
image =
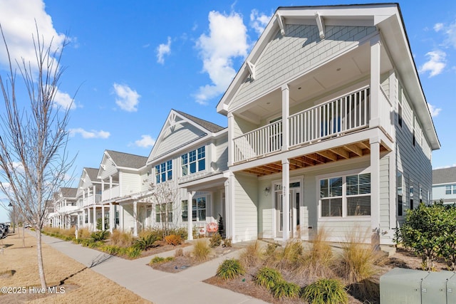
[[432, 170], [432, 201], [456, 204], [456, 167]]

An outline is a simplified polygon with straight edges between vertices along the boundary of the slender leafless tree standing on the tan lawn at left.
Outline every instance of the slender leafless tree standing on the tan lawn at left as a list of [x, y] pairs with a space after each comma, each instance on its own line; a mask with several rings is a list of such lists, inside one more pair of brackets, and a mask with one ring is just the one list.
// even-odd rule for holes
[[[66, 184], [66, 172], [74, 162], [66, 150], [70, 107], [62, 108], [55, 102], [64, 70], [60, 66], [61, 56], [67, 41], [53, 51], [52, 41], [45, 44], [36, 26], [36, 36], [32, 35], [36, 63], [22, 58], [15, 61], [17, 67], [13, 68], [1, 26], [0, 31], [9, 60], [6, 78], [0, 75], [5, 106], [0, 120], [0, 189], [14, 204], [16, 214], [36, 231], [38, 274], [41, 287], [46, 288], [41, 229], [47, 221], [49, 201]], [[18, 98], [22, 94], [21, 83], [16, 83], [18, 70], [28, 105]]]

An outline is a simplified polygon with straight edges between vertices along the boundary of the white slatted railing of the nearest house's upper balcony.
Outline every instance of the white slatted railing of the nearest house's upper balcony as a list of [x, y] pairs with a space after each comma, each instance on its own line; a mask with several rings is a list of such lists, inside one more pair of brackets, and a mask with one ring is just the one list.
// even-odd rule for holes
[[[368, 87], [290, 115], [289, 150], [369, 127]], [[380, 88], [380, 128], [390, 134], [392, 105]], [[234, 164], [265, 157], [282, 150], [282, 120], [234, 138]]]

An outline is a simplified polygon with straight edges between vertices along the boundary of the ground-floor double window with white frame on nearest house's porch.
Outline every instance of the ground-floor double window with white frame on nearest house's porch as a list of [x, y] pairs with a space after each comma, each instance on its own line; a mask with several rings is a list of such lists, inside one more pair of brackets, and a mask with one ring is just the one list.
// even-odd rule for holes
[[370, 216], [371, 174], [321, 179], [320, 197], [322, 217]]

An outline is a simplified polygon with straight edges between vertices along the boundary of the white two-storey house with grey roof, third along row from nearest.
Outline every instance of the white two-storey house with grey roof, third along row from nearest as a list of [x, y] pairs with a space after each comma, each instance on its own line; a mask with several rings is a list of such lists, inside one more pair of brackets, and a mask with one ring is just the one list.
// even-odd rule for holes
[[147, 192], [150, 184], [146, 160], [147, 157], [112, 150], [103, 153], [97, 174], [101, 182], [101, 202], [96, 214], [94, 211], [102, 227], [108, 221], [110, 231], [120, 229], [138, 235], [146, 204], [139, 201], [139, 197]]

